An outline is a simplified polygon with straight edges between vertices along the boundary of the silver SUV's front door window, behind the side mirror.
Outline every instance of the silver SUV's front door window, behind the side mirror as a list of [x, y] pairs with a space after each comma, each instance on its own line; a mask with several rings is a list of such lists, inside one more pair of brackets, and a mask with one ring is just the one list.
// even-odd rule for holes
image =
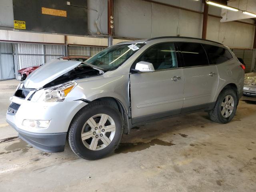
[[148, 48], [137, 62], [146, 61], [153, 64], [155, 70], [177, 67], [176, 52], [173, 43], [158, 44]]

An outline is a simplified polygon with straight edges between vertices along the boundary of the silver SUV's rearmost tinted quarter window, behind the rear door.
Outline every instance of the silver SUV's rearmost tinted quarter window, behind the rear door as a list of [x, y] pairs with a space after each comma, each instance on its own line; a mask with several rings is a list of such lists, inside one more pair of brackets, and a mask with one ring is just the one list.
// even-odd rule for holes
[[220, 64], [233, 58], [230, 52], [225, 48], [206, 44], [203, 46], [208, 55], [210, 64]]

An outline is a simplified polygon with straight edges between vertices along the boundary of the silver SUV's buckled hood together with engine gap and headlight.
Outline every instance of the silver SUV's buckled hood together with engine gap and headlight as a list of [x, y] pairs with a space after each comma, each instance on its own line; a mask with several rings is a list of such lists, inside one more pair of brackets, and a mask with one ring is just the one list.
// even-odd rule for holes
[[[74, 68], [66, 68], [65, 71], [61, 62], [63, 62], [63, 65], [66, 65], [68, 62]], [[58, 67], [62, 73], [54, 73]], [[50, 71], [50, 69], [52, 70]], [[95, 68], [84, 62], [54, 60], [54, 62], [42, 66], [39, 72], [29, 76], [24, 84], [20, 84], [14, 96], [32, 102], [60, 102], [75, 88], [77, 85], [75, 80], [100, 76], [102, 74], [104, 74], [103, 69]], [[44, 85], [42, 82], [38, 82], [39, 85], [36, 84], [39, 75], [45, 78], [43, 80]]]

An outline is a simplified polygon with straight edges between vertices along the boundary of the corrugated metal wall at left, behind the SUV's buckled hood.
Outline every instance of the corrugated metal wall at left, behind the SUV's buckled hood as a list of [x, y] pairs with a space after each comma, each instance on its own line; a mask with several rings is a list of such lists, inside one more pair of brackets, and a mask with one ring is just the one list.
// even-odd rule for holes
[[[68, 54], [93, 56], [106, 47], [68, 46]], [[0, 42], [0, 80], [17, 77], [18, 70], [65, 56], [65, 45]]]

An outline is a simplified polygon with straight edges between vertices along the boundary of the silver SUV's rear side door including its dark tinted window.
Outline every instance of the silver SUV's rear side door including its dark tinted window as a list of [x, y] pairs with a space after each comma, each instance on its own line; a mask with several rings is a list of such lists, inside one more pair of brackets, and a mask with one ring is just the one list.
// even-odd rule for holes
[[[184, 104], [183, 110], [205, 107], [214, 98], [218, 87], [218, 70], [210, 65], [200, 43], [178, 43], [184, 61]], [[197, 106], [197, 107], [196, 107]]]

